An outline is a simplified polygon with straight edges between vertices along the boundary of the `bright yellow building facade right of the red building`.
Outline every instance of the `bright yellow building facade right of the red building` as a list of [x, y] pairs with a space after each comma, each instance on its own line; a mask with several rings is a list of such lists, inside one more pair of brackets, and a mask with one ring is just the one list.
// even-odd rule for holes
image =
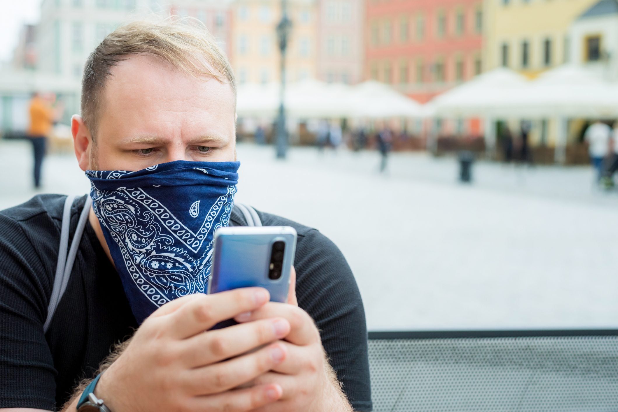
[[485, 0], [485, 70], [534, 77], [569, 61], [569, 28], [598, 0]]

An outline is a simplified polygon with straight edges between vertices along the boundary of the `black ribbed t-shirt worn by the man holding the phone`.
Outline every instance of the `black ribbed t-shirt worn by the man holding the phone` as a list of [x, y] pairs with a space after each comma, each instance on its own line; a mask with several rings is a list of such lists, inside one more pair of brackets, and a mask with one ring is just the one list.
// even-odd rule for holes
[[[93, 377], [112, 345], [137, 327], [116, 269], [87, 224], [66, 292], [44, 334], [65, 198], [38, 195], [0, 211], [0, 408], [62, 406], [80, 379]], [[71, 236], [85, 199], [72, 208]], [[297, 230], [298, 305], [320, 329], [352, 406], [370, 411], [365, 312], [345, 258], [318, 230], [258, 215], [263, 225]]]

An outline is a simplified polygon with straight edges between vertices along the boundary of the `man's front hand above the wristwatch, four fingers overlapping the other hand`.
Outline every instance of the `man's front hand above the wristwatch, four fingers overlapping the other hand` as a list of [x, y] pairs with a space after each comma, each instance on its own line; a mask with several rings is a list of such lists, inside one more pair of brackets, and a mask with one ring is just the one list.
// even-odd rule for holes
[[234, 388], [284, 363], [285, 317], [204, 332], [268, 300], [263, 288], [242, 288], [167, 303], [135, 332], [95, 395], [114, 412], [249, 411], [279, 400], [282, 385], [275, 382]]

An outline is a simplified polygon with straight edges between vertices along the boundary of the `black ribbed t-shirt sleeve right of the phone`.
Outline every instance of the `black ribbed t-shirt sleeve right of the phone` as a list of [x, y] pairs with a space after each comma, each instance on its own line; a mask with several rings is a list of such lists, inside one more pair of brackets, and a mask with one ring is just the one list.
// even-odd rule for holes
[[365, 309], [339, 248], [318, 230], [298, 241], [298, 306], [313, 317], [337, 378], [355, 411], [371, 411]]

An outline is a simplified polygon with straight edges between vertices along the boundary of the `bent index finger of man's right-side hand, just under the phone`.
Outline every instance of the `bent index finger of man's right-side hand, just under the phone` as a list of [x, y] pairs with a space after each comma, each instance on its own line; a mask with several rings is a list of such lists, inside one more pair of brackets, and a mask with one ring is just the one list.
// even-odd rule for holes
[[320, 333], [311, 316], [303, 309], [287, 303], [269, 302], [251, 313], [243, 313], [242, 316], [236, 316], [234, 319], [242, 323], [269, 317], [283, 317], [290, 322], [292, 330], [286, 337], [288, 342], [295, 345], [310, 345], [320, 340]]

